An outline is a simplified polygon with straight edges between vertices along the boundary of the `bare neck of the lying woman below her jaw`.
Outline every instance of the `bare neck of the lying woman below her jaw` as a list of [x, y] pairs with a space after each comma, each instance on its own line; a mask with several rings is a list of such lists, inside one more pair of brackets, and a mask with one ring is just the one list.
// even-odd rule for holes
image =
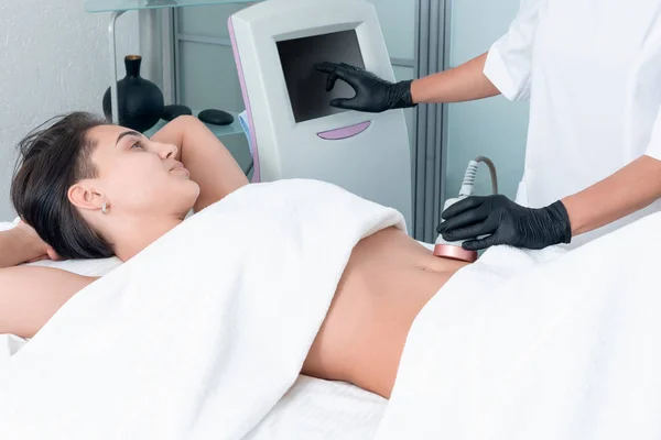
[[123, 262], [165, 235], [182, 222], [178, 217], [113, 219], [112, 233], [108, 234], [115, 254]]

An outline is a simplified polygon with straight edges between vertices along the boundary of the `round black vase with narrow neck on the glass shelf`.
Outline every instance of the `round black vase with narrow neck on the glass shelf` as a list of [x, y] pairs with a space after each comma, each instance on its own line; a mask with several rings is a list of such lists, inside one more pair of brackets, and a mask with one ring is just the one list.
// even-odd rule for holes
[[[127, 76], [117, 81], [117, 100], [119, 103], [119, 124], [144, 132], [154, 127], [163, 113], [163, 94], [159, 87], [140, 76], [142, 57], [128, 55], [124, 57]], [[112, 118], [110, 87], [104, 95], [104, 113]]]

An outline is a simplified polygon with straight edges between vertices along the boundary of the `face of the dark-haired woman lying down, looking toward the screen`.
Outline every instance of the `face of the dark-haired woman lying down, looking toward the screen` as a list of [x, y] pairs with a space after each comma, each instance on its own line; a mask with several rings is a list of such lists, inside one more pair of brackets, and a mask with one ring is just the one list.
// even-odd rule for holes
[[96, 141], [91, 162], [96, 185], [111, 212], [129, 216], [185, 215], [199, 196], [199, 186], [176, 161], [177, 147], [151, 142], [117, 125], [96, 127], [87, 133]]

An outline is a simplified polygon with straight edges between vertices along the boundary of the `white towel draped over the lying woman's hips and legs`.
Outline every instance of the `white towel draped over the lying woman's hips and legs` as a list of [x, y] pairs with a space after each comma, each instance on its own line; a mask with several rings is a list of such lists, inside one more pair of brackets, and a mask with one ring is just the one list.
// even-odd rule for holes
[[416, 317], [378, 440], [661, 439], [661, 213], [495, 248]]

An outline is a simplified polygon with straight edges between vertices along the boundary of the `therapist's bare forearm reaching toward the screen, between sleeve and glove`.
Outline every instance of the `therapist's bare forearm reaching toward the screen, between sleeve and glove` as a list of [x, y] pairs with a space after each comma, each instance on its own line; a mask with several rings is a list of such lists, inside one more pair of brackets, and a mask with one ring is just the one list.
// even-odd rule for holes
[[462, 102], [500, 95], [483, 73], [486, 59], [484, 53], [460, 66], [414, 80], [413, 102]]

